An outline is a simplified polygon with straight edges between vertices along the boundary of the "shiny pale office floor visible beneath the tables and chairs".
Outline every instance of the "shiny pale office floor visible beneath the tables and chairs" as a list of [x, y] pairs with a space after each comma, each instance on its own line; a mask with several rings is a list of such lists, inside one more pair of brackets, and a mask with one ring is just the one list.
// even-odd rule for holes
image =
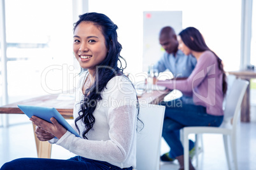
[[[256, 105], [252, 106], [251, 111], [252, 121], [250, 123], [239, 124], [238, 167], [241, 170], [256, 169]], [[37, 156], [31, 122], [28, 121], [25, 115], [10, 115], [9, 119], [10, 127], [0, 128], [0, 166], [2, 166], [4, 162], [19, 157]], [[197, 170], [227, 169], [222, 136], [218, 134], [204, 134], [203, 141], [204, 152], [199, 155], [199, 166]], [[161, 154], [168, 150], [169, 147], [166, 145], [166, 142], [162, 140]], [[52, 158], [68, 159], [71, 156], [73, 156], [73, 154], [67, 150], [53, 145]], [[196, 160], [193, 160], [193, 164], [196, 164]], [[160, 162], [160, 170], [167, 169], [178, 169], [178, 162], [176, 162], [176, 160], [171, 163]]]

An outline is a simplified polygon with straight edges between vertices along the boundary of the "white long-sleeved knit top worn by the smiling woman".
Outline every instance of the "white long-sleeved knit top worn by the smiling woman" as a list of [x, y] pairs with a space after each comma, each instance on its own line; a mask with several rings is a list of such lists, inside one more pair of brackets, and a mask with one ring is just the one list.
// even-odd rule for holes
[[[119, 167], [135, 166], [137, 100], [134, 88], [125, 77], [116, 76], [108, 82], [102, 97], [94, 111], [94, 127], [86, 134], [89, 140], [67, 132], [56, 144], [89, 159]], [[79, 108], [74, 109], [74, 119]], [[77, 123], [82, 136], [84, 125], [81, 121]]]

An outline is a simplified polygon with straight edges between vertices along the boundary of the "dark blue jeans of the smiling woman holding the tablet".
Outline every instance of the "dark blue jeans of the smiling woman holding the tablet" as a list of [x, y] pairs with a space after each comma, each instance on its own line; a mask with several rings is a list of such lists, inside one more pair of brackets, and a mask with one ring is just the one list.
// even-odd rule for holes
[[[41, 158], [20, 158], [15, 159], [10, 162], [6, 162], [2, 167], [1, 170], [30, 170], [30, 169], [37, 169], [37, 170], [105, 170], [105, 169], [114, 169], [120, 170], [122, 168], [113, 166], [108, 162], [103, 162], [99, 160], [92, 160], [87, 159], [85, 157], [76, 156], [68, 160], [61, 160], [61, 159], [41, 159]], [[124, 168], [124, 170], [132, 170], [132, 167]]]

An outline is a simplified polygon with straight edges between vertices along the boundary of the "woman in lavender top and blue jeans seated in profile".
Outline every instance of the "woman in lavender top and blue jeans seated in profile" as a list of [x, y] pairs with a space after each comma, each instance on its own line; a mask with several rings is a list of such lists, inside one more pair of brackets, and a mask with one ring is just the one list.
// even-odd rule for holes
[[[186, 126], [220, 126], [224, 112], [222, 102], [227, 91], [222, 60], [206, 45], [202, 34], [194, 27], [188, 27], [178, 36], [179, 49], [185, 55], [193, 55], [197, 64], [185, 80], [157, 81], [157, 84], [182, 92], [192, 92], [194, 104], [169, 103], [166, 107], [162, 136], [183, 165], [183, 146], [174, 131]], [[190, 169], [194, 169], [190, 161]]]

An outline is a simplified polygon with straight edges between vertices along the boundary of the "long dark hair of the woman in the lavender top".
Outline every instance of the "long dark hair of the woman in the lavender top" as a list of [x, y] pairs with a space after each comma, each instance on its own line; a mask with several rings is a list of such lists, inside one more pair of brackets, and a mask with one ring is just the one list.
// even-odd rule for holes
[[[181, 37], [184, 44], [192, 49], [193, 51], [203, 52], [206, 50], [210, 50], [208, 46], [206, 45], [206, 42], [204, 41], [204, 38], [202, 34], [194, 27], [187, 27], [187, 29], [184, 29], [180, 32], [179, 36]], [[211, 51], [213, 52], [213, 51]], [[218, 69], [222, 71], [223, 77], [222, 77], [222, 91], [223, 94], [227, 92], [227, 81], [226, 81], [226, 74], [223, 68], [222, 60], [213, 52], [213, 54], [216, 56], [218, 61]]]

